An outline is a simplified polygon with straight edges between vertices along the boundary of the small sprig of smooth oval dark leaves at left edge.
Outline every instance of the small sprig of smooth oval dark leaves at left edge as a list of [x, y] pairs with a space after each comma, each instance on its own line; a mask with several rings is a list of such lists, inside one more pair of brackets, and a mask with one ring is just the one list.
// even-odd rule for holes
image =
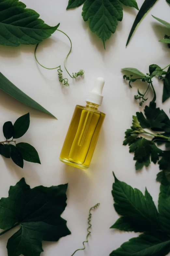
[[16, 140], [14, 140], [22, 137], [28, 130], [29, 125], [29, 113], [19, 117], [14, 125], [10, 121], [3, 125], [6, 141], [0, 142], [0, 154], [6, 158], [11, 158], [21, 168], [23, 168], [23, 160], [40, 163], [38, 152], [32, 145], [24, 142], [16, 143]]

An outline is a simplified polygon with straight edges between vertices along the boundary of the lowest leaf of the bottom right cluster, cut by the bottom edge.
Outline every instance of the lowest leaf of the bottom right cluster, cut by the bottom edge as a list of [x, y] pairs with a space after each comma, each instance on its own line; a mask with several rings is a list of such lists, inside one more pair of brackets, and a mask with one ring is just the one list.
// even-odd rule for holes
[[130, 239], [110, 256], [165, 256], [170, 251], [170, 238], [163, 232], [146, 232]]

